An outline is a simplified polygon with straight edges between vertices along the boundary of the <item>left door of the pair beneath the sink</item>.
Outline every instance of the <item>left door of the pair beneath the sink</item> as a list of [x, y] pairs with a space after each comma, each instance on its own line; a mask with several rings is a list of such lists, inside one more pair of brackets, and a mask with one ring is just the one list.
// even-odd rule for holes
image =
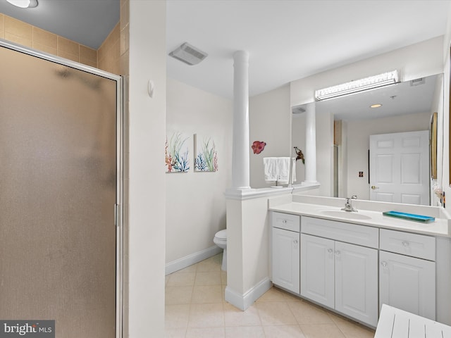
[[334, 306], [334, 241], [301, 234], [301, 295]]

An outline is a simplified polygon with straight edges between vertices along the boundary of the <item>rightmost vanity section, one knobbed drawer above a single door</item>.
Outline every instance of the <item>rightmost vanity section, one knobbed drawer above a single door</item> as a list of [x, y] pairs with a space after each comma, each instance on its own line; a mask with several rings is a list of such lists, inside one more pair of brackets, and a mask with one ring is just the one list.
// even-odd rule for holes
[[435, 320], [435, 237], [381, 229], [379, 306]]

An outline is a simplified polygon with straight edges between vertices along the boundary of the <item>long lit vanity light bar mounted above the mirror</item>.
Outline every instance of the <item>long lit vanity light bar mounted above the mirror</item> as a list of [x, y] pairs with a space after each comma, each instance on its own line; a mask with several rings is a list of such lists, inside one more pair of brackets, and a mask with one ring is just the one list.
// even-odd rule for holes
[[333, 87], [327, 87], [324, 89], [316, 90], [315, 98], [316, 100], [321, 101], [336, 96], [342, 96], [362, 92], [364, 90], [373, 89], [377, 87], [383, 87], [388, 84], [395, 84], [397, 82], [399, 82], [397, 77], [397, 70], [393, 70], [392, 72], [365, 77], [364, 79], [346, 82], [343, 84], [338, 84]]

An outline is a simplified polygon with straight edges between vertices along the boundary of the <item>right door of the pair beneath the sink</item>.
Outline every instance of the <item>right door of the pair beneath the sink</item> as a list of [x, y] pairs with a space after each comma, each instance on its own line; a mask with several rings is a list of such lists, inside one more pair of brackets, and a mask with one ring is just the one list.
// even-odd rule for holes
[[378, 324], [378, 251], [335, 242], [335, 310]]

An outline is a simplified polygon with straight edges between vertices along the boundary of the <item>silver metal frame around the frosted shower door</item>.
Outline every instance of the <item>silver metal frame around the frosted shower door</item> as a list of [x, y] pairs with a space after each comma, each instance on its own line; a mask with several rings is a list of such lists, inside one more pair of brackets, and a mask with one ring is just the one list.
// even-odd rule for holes
[[0, 39], [0, 46], [43, 60], [116, 81], [116, 204], [111, 206], [116, 227], [116, 338], [123, 337], [123, 77], [75, 61]]

